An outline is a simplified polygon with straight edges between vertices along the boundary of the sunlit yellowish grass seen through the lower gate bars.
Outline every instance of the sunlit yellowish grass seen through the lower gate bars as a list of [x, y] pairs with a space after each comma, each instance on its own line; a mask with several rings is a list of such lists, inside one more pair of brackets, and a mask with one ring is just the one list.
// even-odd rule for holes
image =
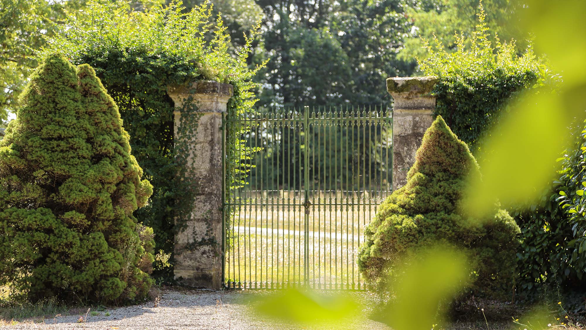
[[303, 284], [307, 277], [314, 288], [364, 289], [356, 257], [376, 204], [350, 207], [340, 199], [345, 201], [338, 198], [338, 205], [314, 201], [307, 220], [299, 200], [296, 206], [236, 209], [230, 219], [227, 281], [236, 287], [280, 288]]

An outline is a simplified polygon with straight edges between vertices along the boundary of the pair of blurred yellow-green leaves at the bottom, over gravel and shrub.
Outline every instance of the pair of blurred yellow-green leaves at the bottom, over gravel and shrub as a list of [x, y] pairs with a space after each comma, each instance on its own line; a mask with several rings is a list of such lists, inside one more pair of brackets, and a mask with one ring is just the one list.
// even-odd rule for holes
[[[395, 293], [390, 302], [369, 315], [393, 329], [430, 329], [442, 323], [445, 308], [465, 287], [468, 262], [462, 251], [445, 245], [422, 248], [396, 270]], [[372, 306], [343, 294], [289, 289], [261, 299], [258, 315], [271, 322], [287, 322], [319, 329], [354, 329], [353, 321]]]

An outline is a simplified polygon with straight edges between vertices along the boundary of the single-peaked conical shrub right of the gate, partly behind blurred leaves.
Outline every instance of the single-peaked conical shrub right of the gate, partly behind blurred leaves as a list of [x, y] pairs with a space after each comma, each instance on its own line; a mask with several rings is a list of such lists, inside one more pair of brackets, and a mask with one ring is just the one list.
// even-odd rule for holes
[[473, 292], [492, 295], [512, 289], [520, 233], [515, 220], [496, 204], [488, 218], [460, 213], [465, 177], [478, 170], [466, 143], [438, 116], [424, 134], [407, 184], [380, 205], [364, 231], [358, 257], [362, 274], [384, 287], [404, 258], [434, 244], [449, 244], [468, 252]]

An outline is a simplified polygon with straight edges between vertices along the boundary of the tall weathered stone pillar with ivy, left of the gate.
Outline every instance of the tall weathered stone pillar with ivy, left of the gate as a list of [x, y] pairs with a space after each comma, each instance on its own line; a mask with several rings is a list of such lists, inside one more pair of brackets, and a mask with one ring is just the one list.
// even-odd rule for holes
[[[186, 153], [178, 157], [185, 157], [185, 175], [196, 189], [194, 208], [175, 237], [175, 279], [191, 287], [220, 289], [225, 134], [222, 116], [233, 87], [199, 81], [169, 86], [168, 94], [175, 102], [175, 146], [182, 144], [184, 147], [179, 152]], [[191, 105], [197, 110], [188, 110], [193, 109]], [[182, 127], [186, 124], [196, 124], [197, 129]]]

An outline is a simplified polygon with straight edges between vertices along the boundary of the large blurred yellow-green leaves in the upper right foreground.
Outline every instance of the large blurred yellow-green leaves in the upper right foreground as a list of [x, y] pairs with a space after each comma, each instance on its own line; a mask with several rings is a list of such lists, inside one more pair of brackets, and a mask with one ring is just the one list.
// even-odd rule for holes
[[[568, 126], [584, 119], [586, 110], [586, 26], [580, 12], [586, 3], [529, 1], [519, 12], [524, 31], [534, 36], [537, 53], [547, 53], [548, 65], [563, 76], [558, 90], [527, 91], [510, 107], [484, 144], [482, 176], [471, 177], [467, 209], [490, 210], [498, 198], [510, 207], [539, 198], [553, 176], [555, 160], [568, 143]], [[568, 31], [564, 38], [554, 31]], [[522, 123], [522, 124], [521, 124]]]

